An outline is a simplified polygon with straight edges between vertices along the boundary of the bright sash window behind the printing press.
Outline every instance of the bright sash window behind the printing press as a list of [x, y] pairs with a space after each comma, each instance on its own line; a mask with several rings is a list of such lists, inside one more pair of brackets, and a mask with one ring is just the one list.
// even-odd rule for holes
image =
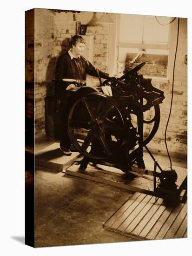
[[[157, 17], [169, 24], [170, 17]], [[118, 74], [148, 61], [139, 73], [167, 78], [170, 26], [155, 16], [119, 14]]]

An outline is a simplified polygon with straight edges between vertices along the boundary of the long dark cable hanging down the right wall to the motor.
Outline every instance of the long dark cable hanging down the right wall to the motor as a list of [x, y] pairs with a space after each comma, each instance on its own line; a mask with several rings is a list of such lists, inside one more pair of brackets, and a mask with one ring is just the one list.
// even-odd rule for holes
[[177, 28], [177, 43], [176, 43], [176, 49], [175, 49], [175, 58], [174, 58], [174, 64], [173, 64], [173, 74], [172, 74], [172, 98], [171, 98], [171, 106], [170, 106], [170, 111], [169, 111], [169, 117], [167, 119], [167, 123], [166, 123], [166, 130], [165, 130], [165, 144], [166, 144], [166, 150], [167, 150], [167, 155], [169, 156], [169, 161], [170, 161], [170, 168], [172, 170], [172, 160], [169, 154], [169, 150], [167, 148], [167, 143], [166, 143], [166, 132], [167, 132], [167, 127], [169, 124], [169, 119], [171, 116], [171, 112], [172, 112], [172, 99], [173, 99], [173, 88], [174, 88], [174, 76], [175, 76], [175, 62], [176, 62], [176, 56], [177, 56], [177, 49], [178, 49], [178, 40], [179, 40], [179, 18], [178, 18], [178, 28]]

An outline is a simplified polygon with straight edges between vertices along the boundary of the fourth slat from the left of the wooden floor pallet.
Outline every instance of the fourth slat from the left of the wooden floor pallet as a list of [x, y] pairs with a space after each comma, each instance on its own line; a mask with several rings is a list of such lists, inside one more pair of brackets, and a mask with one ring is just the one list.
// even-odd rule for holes
[[130, 223], [130, 225], [126, 228], [126, 233], [131, 233], [133, 229], [137, 227], [139, 222], [143, 219], [143, 217], [146, 215], [146, 213], [151, 209], [152, 205], [158, 200], [158, 198], [152, 196], [150, 201], [144, 206], [141, 212], [135, 217], [135, 219]]

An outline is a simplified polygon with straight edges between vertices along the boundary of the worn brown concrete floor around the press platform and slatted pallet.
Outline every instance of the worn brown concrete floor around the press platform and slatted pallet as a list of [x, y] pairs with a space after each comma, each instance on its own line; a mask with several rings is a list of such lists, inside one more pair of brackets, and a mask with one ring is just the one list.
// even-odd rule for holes
[[[37, 138], [36, 151], [53, 142]], [[169, 166], [167, 157], [155, 157]], [[186, 161], [172, 162], [186, 168]], [[132, 193], [41, 167], [35, 170], [35, 247], [133, 241], [102, 227]]]

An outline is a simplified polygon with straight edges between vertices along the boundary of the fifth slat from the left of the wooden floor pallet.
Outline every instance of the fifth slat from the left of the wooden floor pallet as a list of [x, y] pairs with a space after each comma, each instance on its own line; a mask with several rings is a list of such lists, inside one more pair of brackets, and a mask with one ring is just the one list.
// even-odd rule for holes
[[159, 198], [157, 200], [157, 202], [154, 202], [152, 207], [148, 210], [148, 212], [146, 213], [146, 215], [143, 217], [143, 219], [139, 222], [139, 224], [137, 225], [137, 227], [135, 229], [132, 230], [132, 234], [134, 234], [135, 236], [139, 236], [140, 232], [144, 229], [144, 227], [146, 226], [146, 224], [149, 222], [149, 220], [151, 219], [151, 217], [155, 214], [155, 212], [157, 211], [157, 209], [159, 209], [159, 206], [162, 204], [163, 199]]

